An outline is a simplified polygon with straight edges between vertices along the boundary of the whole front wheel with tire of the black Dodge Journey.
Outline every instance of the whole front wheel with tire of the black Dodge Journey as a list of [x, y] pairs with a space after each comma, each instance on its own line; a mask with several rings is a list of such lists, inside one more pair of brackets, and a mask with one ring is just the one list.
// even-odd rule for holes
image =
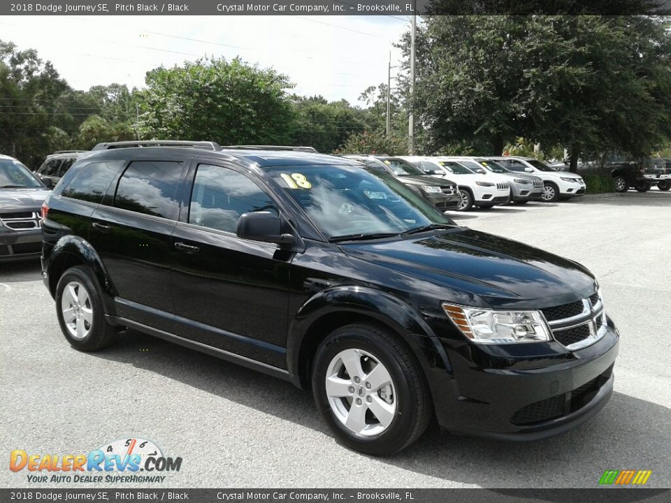
[[428, 386], [410, 351], [382, 328], [352, 324], [322, 342], [312, 393], [339, 442], [389, 455], [426, 430], [433, 411]]

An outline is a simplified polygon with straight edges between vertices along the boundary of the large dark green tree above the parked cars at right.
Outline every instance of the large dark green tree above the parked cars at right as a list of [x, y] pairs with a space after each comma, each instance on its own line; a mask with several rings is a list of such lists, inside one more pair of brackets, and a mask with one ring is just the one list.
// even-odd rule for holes
[[667, 143], [670, 57], [659, 17], [428, 16], [412, 105], [430, 150], [485, 138], [500, 154], [524, 136], [568, 148], [575, 169], [581, 154]]

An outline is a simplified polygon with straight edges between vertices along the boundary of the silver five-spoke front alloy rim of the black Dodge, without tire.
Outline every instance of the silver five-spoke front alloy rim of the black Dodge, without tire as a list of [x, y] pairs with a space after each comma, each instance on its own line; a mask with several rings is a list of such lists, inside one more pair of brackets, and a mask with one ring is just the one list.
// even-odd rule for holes
[[338, 421], [357, 435], [380, 435], [396, 416], [391, 374], [363, 349], [345, 349], [326, 370], [326, 396]]

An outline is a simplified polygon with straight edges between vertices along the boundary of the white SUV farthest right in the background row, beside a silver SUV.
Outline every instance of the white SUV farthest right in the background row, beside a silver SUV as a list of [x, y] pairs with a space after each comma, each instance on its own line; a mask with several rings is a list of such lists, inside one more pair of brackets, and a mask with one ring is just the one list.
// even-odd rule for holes
[[521, 173], [531, 173], [543, 180], [542, 201], [554, 203], [557, 199], [570, 199], [584, 196], [585, 182], [582, 176], [566, 171], [558, 171], [532, 157], [487, 156], [486, 159], [498, 162], [504, 168]]

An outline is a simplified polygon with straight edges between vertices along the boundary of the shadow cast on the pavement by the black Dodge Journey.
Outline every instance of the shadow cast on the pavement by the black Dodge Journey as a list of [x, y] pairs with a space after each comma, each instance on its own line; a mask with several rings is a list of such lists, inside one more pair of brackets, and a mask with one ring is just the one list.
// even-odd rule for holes
[[[91, 356], [165, 375], [333, 439], [310, 392], [266, 374], [133, 330], [122, 332], [117, 344]], [[443, 434], [434, 424], [417, 443], [377, 460], [486, 488], [598, 487], [606, 469], [651, 469], [647, 486], [660, 488], [671, 486], [669, 439], [671, 409], [614, 393], [590, 421], [557, 437], [501, 442]]]

